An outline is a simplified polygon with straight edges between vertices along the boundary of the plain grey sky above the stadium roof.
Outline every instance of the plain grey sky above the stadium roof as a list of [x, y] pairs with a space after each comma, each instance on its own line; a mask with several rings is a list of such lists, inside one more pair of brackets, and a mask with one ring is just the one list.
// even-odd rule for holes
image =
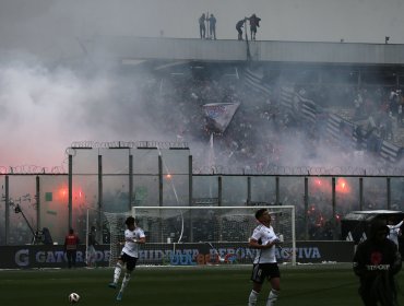
[[346, 43], [404, 43], [402, 0], [1, 0], [2, 45], [69, 56], [75, 38], [123, 35], [193, 38], [198, 17], [214, 13], [217, 36], [235, 39], [235, 24], [257, 13], [259, 38]]

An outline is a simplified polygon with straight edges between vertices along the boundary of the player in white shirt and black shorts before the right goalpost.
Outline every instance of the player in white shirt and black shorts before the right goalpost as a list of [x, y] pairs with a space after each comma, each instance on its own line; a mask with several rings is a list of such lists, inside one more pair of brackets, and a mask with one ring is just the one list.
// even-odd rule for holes
[[272, 286], [266, 306], [272, 306], [281, 291], [281, 273], [275, 257], [275, 246], [281, 242], [271, 226], [271, 214], [266, 209], [258, 210], [256, 219], [260, 224], [253, 231], [248, 243], [250, 248], [258, 249], [252, 267], [251, 281], [253, 285], [248, 298], [248, 306], [257, 305], [265, 279], [270, 281]]

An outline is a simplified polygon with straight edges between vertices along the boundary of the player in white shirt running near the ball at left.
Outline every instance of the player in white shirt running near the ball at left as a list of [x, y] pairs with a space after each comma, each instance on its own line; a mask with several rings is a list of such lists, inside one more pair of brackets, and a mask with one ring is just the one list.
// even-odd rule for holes
[[118, 286], [120, 273], [123, 266], [126, 264], [127, 270], [122, 280], [121, 289], [117, 295], [117, 301], [122, 299], [123, 291], [127, 287], [131, 273], [136, 266], [136, 261], [139, 258], [139, 245], [146, 242], [143, 229], [136, 226], [133, 216], [128, 216], [124, 224], [128, 228], [124, 231], [123, 248], [121, 250], [117, 266], [115, 267], [114, 281], [108, 285], [112, 289], [116, 289]]

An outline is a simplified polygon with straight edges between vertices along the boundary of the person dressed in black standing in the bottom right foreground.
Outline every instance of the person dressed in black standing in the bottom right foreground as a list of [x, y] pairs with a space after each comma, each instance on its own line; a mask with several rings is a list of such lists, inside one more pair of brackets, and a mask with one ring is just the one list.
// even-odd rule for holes
[[359, 276], [359, 295], [366, 306], [399, 305], [394, 275], [401, 270], [402, 261], [388, 235], [389, 227], [384, 222], [373, 221], [369, 238], [358, 245], [354, 256], [353, 268]]

